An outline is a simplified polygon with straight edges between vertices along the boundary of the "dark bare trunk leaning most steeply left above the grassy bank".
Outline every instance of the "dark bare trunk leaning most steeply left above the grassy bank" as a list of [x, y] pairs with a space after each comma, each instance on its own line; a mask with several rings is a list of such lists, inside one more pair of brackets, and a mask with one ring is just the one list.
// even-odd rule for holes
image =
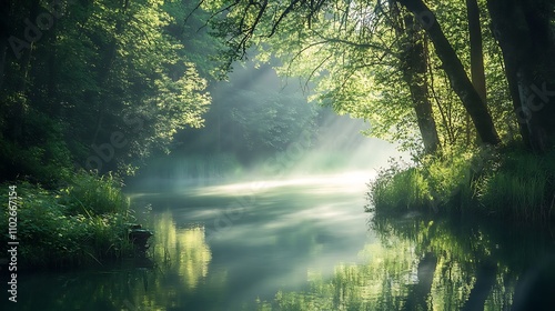
[[451, 87], [463, 102], [468, 114], [471, 114], [481, 141], [488, 144], [500, 143], [501, 140], [495, 130], [492, 116], [487, 111], [487, 107], [466, 76], [463, 63], [456, 56], [447, 38], [445, 38], [435, 16], [422, 0], [397, 0], [397, 2], [413, 12], [426, 29], [437, 56], [443, 62], [443, 69], [450, 78]]

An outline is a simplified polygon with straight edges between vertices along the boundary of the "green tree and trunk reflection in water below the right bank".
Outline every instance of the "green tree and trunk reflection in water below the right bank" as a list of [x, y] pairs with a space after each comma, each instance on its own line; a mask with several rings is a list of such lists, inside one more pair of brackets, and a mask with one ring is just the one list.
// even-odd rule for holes
[[259, 310], [553, 310], [554, 239], [539, 228], [475, 219], [375, 215], [380, 243], [310, 291], [278, 292]]

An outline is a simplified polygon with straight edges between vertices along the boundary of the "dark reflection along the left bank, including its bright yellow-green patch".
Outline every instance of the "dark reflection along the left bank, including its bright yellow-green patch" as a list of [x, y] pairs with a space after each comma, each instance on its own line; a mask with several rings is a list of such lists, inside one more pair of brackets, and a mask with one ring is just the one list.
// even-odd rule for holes
[[170, 212], [152, 218], [150, 259], [63, 273], [22, 271], [17, 308], [3, 300], [0, 310], [221, 310], [226, 274], [209, 269], [204, 228], [178, 228]]

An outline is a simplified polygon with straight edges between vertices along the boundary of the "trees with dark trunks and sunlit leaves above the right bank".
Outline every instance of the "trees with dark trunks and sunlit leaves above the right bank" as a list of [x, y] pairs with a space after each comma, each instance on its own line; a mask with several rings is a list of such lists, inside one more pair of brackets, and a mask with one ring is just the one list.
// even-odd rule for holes
[[553, 1], [201, 1], [228, 64], [263, 48], [373, 134], [426, 153], [554, 146]]

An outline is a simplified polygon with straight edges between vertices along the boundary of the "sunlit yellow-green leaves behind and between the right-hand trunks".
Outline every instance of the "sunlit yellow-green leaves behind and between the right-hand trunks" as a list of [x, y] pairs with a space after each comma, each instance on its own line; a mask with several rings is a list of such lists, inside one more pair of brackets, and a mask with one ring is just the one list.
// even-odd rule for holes
[[[228, 4], [205, 2], [210, 6]], [[392, 24], [391, 17], [396, 10], [401, 10], [398, 14], [407, 12], [392, 2], [322, 1], [311, 7], [300, 1], [291, 8], [285, 3], [269, 3], [263, 11], [240, 1], [231, 4], [233, 14], [226, 14], [223, 20], [215, 19], [213, 23], [221, 36], [235, 39], [229, 40], [230, 51], [238, 53], [235, 57], [243, 56], [243, 44], [259, 44], [263, 52], [258, 57], [278, 56], [283, 60], [282, 74], [302, 76], [313, 82], [315, 100], [333, 107], [339, 113], [352, 113], [369, 120], [372, 123], [369, 134], [401, 142], [405, 149], [418, 153], [423, 133], [418, 133], [414, 94], [405, 72], [410, 66], [406, 49], [411, 38], [400, 33], [397, 28], [402, 26]], [[481, 8], [485, 10], [484, 1], [481, 1]], [[273, 10], [283, 12], [283, 19], [273, 16]], [[431, 10], [438, 21], [448, 24], [445, 36], [462, 63], [470, 69], [470, 46], [467, 38], [462, 36], [467, 32], [467, 21], [460, 18], [466, 13], [464, 3], [444, 2], [434, 4]], [[263, 14], [255, 23], [258, 12]], [[243, 20], [243, 17], [250, 19]], [[231, 24], [241, 21], [253, 28], [244, 27], [242, 33], [231, 29]], [[482, 22], [486, 30], [490, 22], [486, 14]], [[423, 31], [416, 24], [414, 28]], [[269, 33], [272, 33], [271, 38], [266, 38]], [[500, 48], [491, 32], [484, 31], [483, 38], [488, 109], [501, 136], [507, 140], [517, 139], [518, 124], [516, 116], [511, 116]], [[421, 73], [424, 77], [418, 79], [422, 80], [420, 83], [426, 84], [425, 96], [433, 110], [441, 144], [475, 143], [476, 130], [443, 70], [443, 60], [428, 38], [420, 40], [425, 48], [421, 57], [425, 58], [427, 67]]]

